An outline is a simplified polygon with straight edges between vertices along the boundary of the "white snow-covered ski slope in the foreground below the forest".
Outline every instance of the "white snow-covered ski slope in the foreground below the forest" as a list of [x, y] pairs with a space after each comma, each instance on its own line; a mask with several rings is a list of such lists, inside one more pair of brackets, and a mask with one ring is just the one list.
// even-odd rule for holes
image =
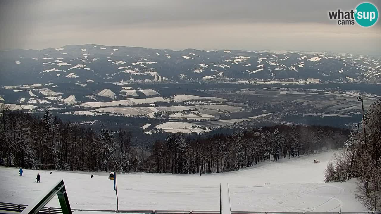
[[[346, 212], [365, 211], [355, 199], [355, 180], [323, 182], [332, 152], [259, 163], [240, 171], [218, 174], [118, 174], [119, 209], [219, 210], [219, 185], [229, 184], [234, 211]], [[319, 159], [320, 163], [314, 163]], [[108, 173], [59, 172], [0, 168], [0, 201], [30, 204], [64, 179], [75, 209], [116, 209], [113, 181]], [[41, 183], [35, 181], [37, 173]], [[47, 206], [59, 207], [53, 198]]]

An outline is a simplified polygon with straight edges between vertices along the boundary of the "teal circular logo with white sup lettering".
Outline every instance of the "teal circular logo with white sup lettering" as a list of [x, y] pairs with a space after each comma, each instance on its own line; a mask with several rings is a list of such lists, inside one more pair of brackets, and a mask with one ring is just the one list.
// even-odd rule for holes
[[363, 27], [370, 27], [377, 22], [378, 10], [371, 3], [361, 3], [356, 8], [355, 19], [357, 24]]

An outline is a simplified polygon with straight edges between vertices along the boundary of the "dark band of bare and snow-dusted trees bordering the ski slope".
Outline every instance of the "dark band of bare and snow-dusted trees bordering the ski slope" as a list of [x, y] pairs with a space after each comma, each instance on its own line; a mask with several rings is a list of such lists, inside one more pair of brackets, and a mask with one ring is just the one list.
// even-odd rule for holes
[[278, 125], [202, 136], [162, 134], [151, 141], [147, 136], [142, 144], [128, 126], [94, 130], [64, 122], [49, 110], [41, 117], [4, 106], [0, 110], [0, 164], [30, 169], [224, 172], [313, 154], [323, 147], [341, 148], [349, 134], [329, 126]]

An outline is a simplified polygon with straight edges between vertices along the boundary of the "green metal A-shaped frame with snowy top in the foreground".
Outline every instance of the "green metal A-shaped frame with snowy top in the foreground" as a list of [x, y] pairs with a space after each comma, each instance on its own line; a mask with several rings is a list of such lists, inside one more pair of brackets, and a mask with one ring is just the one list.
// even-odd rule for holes
[[64, 180], [60, 180], [56, 185], [46, 190], [39, 198], [37, 198], [32, 204], [29, 204], [21, 214], [37, 214], [45, 204], [47, 204], [54, 195], [58, 196], [59, 204], [61, 205], [62, 214], [72, 214], [70, 208], [69, 199], [67, 198]]

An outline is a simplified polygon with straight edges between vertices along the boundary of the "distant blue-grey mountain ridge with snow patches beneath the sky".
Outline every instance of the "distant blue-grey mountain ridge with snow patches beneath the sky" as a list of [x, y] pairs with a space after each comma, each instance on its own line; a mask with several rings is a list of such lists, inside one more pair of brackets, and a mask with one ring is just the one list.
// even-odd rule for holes
[[173, 51], [87, 44], [1, 51], [0, 65], [0, 85], [249, 78], [381, 81], [379, 57], [330, 52]]

